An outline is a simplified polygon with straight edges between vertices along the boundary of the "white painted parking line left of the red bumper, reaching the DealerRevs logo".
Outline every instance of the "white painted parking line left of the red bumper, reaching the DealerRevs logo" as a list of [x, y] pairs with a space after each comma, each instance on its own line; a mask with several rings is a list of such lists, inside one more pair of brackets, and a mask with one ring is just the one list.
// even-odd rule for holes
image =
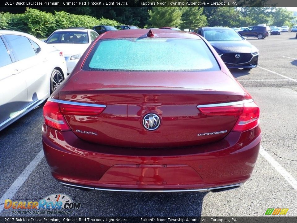
[[5, 194], [2, 195], [0, 199], [0, 213], [4, 209], [4, 201], [6, 199], [12, 199], [15, 193], [19, 190], [19, 188], [23, 185], [23, 183], [28, 179], [29, 175], [35, 169], [35, 167], [39, 164], [41, 159], [43, 158], [43, 149], [35, 156], [35, 158], [29, 163], [29, 165], [24, 169], [24, 171], [19, 175], [18, 178], [11, 184], [10, 188], [6, 190]]

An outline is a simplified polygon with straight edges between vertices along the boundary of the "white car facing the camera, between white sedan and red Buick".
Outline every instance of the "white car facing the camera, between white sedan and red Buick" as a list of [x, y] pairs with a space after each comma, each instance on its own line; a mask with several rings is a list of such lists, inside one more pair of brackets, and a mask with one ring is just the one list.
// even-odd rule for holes
[[72, 27], [54, 31], [45, 42], [62, 50], [67, 73], [70, 74], [84, 51], [98, 36], [99, 34], [92, 29]]

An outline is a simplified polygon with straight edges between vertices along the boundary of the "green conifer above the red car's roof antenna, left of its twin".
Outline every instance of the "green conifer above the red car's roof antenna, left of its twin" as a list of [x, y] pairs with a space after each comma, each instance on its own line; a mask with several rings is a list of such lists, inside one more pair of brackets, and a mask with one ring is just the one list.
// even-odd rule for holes
[[153, 27], [178, 27], [181, 23], [182, 12], [179, 7], [153, 7], [149, 10], [149, 16], [149, 23]]

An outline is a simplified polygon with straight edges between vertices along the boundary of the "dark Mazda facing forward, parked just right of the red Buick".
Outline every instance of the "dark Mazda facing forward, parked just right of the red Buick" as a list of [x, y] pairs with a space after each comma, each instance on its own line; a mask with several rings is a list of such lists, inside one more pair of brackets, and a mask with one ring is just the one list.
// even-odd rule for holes
[[202, 27], [203, 36], [221, 56], [228, 68], [250, 70], [258, 64], [259, 50], [232, 28]]

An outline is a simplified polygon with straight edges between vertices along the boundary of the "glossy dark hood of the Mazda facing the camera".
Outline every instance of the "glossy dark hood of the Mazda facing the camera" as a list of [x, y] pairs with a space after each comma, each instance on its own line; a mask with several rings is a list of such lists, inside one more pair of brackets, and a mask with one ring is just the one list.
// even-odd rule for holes
[[209, 41], [218, 54], [223, 53], [250, 53], [252, 44], [248, 41]]

